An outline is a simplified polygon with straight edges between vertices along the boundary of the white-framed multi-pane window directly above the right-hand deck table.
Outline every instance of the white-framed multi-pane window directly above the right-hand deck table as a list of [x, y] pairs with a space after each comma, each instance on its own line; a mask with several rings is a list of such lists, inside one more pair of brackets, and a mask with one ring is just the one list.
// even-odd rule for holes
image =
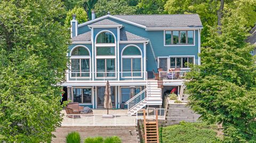
[[170, 57], [170, 68], [189, 68], [194, 64], [194, 57]]

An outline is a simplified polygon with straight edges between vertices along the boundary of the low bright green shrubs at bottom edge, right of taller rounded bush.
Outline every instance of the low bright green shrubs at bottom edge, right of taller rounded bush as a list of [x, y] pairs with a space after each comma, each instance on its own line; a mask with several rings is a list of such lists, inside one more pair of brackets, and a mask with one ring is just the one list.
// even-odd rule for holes
[[121, 139], [117, 136], [107, 137], [103, 139], [102, 137], [86, 138], [84, 143], [121, 143]]

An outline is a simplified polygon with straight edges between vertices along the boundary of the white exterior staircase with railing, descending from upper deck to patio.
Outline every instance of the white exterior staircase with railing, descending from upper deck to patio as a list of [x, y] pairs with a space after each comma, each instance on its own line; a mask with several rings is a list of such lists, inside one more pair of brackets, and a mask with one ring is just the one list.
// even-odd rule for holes
[[146, 105], [162, 105], [162, 89], [157, 80], [148, 80], [147, 88], [128, 100], [128, 114], [134, 115]]

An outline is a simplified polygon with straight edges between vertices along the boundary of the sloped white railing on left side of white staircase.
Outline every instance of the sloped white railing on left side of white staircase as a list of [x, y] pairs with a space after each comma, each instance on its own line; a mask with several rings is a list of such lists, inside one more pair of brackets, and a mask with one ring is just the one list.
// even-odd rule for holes
[[139, 92], [139, 94], [135, 95], [127, 102], [125, 102], [125, 105], [127, 105], [128, 112], [132, 110], [132, 108], [143, 102], [145, 98], [147, 98], [147, 88]]

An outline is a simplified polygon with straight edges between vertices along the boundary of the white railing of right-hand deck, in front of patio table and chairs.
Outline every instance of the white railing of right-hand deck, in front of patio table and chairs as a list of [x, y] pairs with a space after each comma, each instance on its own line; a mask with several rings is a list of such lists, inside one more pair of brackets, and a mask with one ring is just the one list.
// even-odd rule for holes
[[160, 71], [159, 78], [169, 80], [181, 80], [188, 71]]

